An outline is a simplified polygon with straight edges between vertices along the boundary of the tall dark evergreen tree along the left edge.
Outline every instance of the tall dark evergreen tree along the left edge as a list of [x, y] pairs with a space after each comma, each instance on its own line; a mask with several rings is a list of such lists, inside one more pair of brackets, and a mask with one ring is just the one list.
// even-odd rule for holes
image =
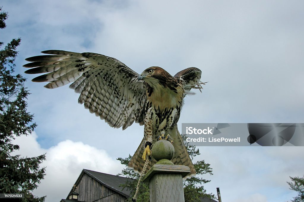
[[[0, 28], [6, 27], [7, 13], [0, 7]], [[3, 45], [0, 42], [0, 47]], [[31, 193], [43, 179], [45, 168], [39, 164], [45, 155], [32, 158], [13, 156], [12, 152], [19, 149], [12, 144], [12, 139], [30, 134], [36, 127], [33, 115], [26, 111], [26, 98], [29, 92], [24, 87], [25, 78], [14, 75], [14, 61], [18, 54], [17, 46], [20, 38], [12, 39], [4, 49], [0, 50], [0, 193], [24, 193], [19, 201], [40, 202], [45, 197], [35, 197]]]

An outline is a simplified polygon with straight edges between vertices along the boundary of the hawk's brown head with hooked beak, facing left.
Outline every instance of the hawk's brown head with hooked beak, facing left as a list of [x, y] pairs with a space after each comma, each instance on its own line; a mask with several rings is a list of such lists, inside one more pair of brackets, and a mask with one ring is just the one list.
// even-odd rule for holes
[[161, 84], [165, 87], [170, 81], [174, 80], [174, 77], [161, 67], [149, 67], [137, 79], [147, 82], [150, 86]]

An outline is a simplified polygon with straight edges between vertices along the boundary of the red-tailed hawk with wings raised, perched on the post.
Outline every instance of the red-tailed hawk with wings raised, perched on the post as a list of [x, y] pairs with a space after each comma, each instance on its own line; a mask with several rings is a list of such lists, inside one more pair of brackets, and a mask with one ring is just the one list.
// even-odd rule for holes
[[[50, 55], [29, 57], [24, 67], [27, 74], [47, 73], [34, 78], [34, 82], [49, 82], [44, 87], [57, 88], [68, 83], [80, 93], [79, 104], [111, 127], [123, 130], [133, 122], [144, 125], [143, 140], [129, 166], [141, 172], [149, 147], [159, 135], [170, 134], [175, 153], [171, 160], [176, 165], [189, 166], [188, 177], [195, 168], [185, 148], [177, 122], [183, 98], [191, 88], [202, 89], [201, 70], [190, 67], [172, 77], [161, 67], [149, 67], [137, 74], [125, 64], [97, 53], [74, 53], [47, 50]], [[145, 149], [146, 148], [146, 149]], [[144, 153], [145, 151], [145, 153]], [[153, 154], [152, 154], [153, 156]], [[142, 159], [143, 158], [143, 159]], [[155, 160], [148, 166], [152, 166]]]

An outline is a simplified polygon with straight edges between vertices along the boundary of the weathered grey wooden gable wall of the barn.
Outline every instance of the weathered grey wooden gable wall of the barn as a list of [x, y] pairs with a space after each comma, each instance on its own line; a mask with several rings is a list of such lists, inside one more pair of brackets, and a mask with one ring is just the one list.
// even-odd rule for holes
[[105, 187], [88, 174], [84, 173], [75, 192], [79, 193], [78, 200], [86, 202], [125, 202], [126, 197]]

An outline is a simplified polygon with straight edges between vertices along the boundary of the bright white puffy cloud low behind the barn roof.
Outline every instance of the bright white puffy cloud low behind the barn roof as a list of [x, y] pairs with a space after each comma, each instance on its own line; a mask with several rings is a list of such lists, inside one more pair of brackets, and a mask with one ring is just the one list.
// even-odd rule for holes
[[20, 150], [15, 154], [33, 157], [47, 153], [47, 159], [40, 165], [46, 167], [46, 176], [33, 191], [36, 196], [47, 195], [46, 202], [60, 201], [67, 197], [82, 169], [116, 175], [124, 168], [105, 150], [82, 142], [65, 140], [49, 149], [42, 149], [36, 139], [37, 135], [33, 132], [27, 137], [17, 137], [12, 142], [20, 146]]

